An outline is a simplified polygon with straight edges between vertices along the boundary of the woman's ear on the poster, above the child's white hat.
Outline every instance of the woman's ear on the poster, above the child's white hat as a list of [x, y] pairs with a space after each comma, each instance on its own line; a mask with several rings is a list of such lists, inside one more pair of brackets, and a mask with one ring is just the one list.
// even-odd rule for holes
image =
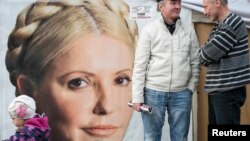
[[34, 85], [27, 76], [20, 74], [17, 77], [16, 86], [19, 94], [26, 94], [33, 97]]

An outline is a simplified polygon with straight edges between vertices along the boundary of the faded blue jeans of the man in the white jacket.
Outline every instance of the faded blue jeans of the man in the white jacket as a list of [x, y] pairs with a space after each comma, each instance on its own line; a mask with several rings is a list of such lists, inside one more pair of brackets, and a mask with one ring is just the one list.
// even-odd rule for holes
[[186, 141], [190, 125], [192, 95], [189, 89], [180, 92], [160, 92], [145, 88], [144, 103], [153, 108], [153, 113], [142, 112], [144, 140], [161, 140], [167, 110], [171, 141]]

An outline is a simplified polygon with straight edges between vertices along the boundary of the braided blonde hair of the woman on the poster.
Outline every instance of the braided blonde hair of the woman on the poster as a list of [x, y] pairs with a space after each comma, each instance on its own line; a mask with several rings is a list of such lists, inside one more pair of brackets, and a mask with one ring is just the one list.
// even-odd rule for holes
[[134, 55], [137, 25], [122, 0], [35, 2], [17, 17], [9, 35], [6, 67], [16, 86], [19, 74], [38, 82], [48, 64], [75, 38], [105, 34], [123, 41]]

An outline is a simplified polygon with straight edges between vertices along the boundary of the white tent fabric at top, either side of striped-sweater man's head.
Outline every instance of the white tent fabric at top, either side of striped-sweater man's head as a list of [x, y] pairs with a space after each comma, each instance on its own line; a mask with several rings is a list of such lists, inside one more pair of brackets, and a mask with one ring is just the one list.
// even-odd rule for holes
[[[203, 13], [203, 0], [182, 0], [182, 6]], [[250, 28], [250, 0], [228, 0], [228, 7], [241, 16]], [[202, 19], [200, 22], [203, 22]]]

